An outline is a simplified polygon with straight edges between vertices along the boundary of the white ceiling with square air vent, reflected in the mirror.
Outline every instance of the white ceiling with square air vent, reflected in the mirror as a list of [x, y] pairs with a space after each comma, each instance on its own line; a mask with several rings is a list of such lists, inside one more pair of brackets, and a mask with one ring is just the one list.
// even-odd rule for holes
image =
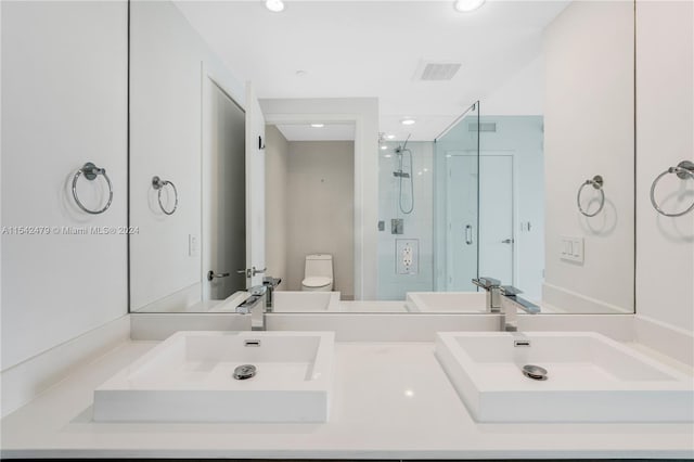
[[[569, 1], [488, 0], [472, 13], [437, 0], [285, 3], [272, 13], [261, 0], [176, 1], [258, 98], [376, 97], [380, 131], [433, 140], [477, 100], [484, 115], [486, 99], [528, 73], [541, 57], [542, 30]], [[461, 68], [450, 80], [422, 81], [426, 62]], [[416, 124], [402, 126], [404, 117]]]

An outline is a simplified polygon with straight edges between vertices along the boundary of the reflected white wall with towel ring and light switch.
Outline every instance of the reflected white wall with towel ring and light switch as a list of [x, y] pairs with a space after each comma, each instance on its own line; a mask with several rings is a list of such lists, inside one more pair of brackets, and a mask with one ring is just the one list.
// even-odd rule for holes
[[[591, 311], [631, 311], [633, 4], [571, 3], [548, 27], [544, 51], [545, 188], [550, 193], [543, 299], [560, 307], [570, 303], [578, 308], [583, 303]], [[605, 181], [605, 207], [587, 218], [578, 211], [576, 194], [595, 175]], [[583, 238], [582, 265], [560, 259], [562, 235]]]

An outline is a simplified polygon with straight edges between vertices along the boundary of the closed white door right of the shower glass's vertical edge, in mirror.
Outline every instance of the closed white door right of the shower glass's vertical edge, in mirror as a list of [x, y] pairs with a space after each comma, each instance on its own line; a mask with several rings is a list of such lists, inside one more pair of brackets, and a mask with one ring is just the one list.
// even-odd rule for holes
[[513, 274], [513, 156], [479, 156], [479, 275], [515, 285]]

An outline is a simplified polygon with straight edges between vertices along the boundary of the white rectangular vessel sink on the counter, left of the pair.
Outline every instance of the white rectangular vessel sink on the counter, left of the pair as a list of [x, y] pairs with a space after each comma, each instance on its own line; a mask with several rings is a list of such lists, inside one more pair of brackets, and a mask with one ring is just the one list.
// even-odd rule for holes
[[[326, 422], [332, 332], [177, 332], [94, 390], [101, 422]], [[255, 376], [233, 377], [243, 364]]]

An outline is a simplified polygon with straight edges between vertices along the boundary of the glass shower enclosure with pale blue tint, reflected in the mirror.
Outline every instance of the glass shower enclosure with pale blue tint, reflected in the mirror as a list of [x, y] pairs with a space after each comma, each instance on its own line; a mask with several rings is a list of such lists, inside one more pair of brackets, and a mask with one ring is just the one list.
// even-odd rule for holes
[[478, 275], [541, 298], [541, 115], [483, 116], [476, 102], [434, 141], [383, 141], [380, 154], [380, 299], [475, 292]]

